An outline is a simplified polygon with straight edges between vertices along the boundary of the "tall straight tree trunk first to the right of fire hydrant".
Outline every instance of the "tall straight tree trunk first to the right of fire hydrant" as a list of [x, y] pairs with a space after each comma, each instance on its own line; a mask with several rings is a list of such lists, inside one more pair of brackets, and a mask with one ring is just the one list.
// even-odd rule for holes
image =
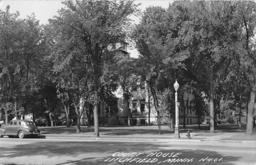
[[214, 133], [214, 103], [213, 103], [213, 67], [211, 66], [210, 76], [210, 132]]

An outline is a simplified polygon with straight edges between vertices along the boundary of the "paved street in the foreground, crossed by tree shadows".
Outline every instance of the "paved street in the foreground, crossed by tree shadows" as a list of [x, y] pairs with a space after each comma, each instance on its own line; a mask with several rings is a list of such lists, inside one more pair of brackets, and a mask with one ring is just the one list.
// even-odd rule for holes
[[0, 139], [0, 164], [255, 165], [255, 143]]

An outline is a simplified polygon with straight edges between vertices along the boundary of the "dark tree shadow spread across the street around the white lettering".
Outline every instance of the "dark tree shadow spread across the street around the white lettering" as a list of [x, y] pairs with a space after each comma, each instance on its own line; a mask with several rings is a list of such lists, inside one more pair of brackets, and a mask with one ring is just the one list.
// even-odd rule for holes
[[[56, 165], [62, 164], [76, 164], [76, 165], [106, 165], [106, 164], [122, 164], [122, 162], [117, 161], [109, 161], [113, 158], [131, 158], [127, 162], [123, 162], [123, 164], [148, 164], [148, 162], [137, 162], [140, 159], [143, 160], [146, 158], [147, 160], [151, 158], [149, 161], [154, 159], [154, 163], [150, 164], [183, 164], [183, 165], [211, 165], [211, 164], [218, 164], [218, 165], [233, 165], [234, 161], [241, 159], [241, 157], [236, 156], [224, 156], [219, 154], [218, 152], [212, 150], [204, 150], [204, 149], [186, 149], [186, 150], [167, 150], [163, 149], [166, 147], [164, 144], [153, 144], [147, 142], [141, 143], [129, 143], [129, 142], [75, 142], [75, 141], [62, 141], [62, 142], [40, 142], [40, 143], [31, 143], [31, 144], [24, 144], [24, 145], [16, 145], [15, 147], [11, 148], [4, 148], [1, 147], [0, 158], [4, 157], [7, 159], [12, 160], [17, 156], [19, 157], [29, 157], [30, 156], [44, 156], [47, 157], [49, 160], [54, 160], [55, 157], [60, 158], [59, 163], [52, 163]], [[168, 146], [172, 147], [172, 146]], [[162, 149], [161, 149], [162, 148]], [[234, 147], [235, 149], [235, 147]], [[136, 157], [122, 157], [117, 156], [113, 157], [112, 155], [116, 152], [123, 152], [123, 153], [144, 153], [140, 154]], [[151, 153], [160, 153], [158, 156], [152, 155], [147, 157], [148, 154]], [[162, 153], [162, 154], [161, 154]], [[176, 154], [176, 157], [163, 157], [163, 154], [170, 153], [169, 156], [172, 154]], [[177, 154], [180, 153], [180, 154]], [[165, 155], [166, 155], [165, 154]], [[80, 155], [80, 157], [77, 157]], [[82, 156], [81, 156], [82, 155]], [[160, 155], [160, 156], [159, 156]], [[83, 159], [81, 159], [81, 157]], [[208, 158], [207, 158], [208, 157]], [[63, 159], [61, 159], [63, 158]], [[110, 158], [110, 159], [108, 159]], [[133, 158], [137, 158], [136, 161], [130, 162]], [[193, 159], [192, 159], [193, 158]], [[211, 161], [210, 158], [213, 158]], [[222, 158], [222, 159], [221, 159]], [[76, 160], [77, 159], [77, 160]], [[122, 159], [124, 161], [125, 159]], [[173, 160], [174, 159], [174, 160]], [[192, 160], [189, 162], [170, 162], [170, 161], [177, 161], [177, 159], [184, 160]], [[199, 161], [201, 159], [205, 159], [205, 161]], [[213, 160], [216, 160], [214, 162]], [[221, 160], [220, 160], [221, 159]], [[108, 160], [108, 161], [106, 161]], [[128, 160], [128, 159], [126, 159]], [[188, 161], [187, 160], [187, 161]], [[220, 160], [220, 161], [219, 161]], [[145, 161], [145, 160], [144, 160]], [[232, 163], [233, 162], [233, 163]]]

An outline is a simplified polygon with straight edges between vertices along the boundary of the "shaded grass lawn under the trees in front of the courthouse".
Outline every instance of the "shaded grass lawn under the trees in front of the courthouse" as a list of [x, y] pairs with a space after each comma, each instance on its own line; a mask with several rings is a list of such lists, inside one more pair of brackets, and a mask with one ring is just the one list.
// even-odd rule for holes
[[[76, 133], [76, 126], [39, 127], [39, 129], [42, 134], [52, 134], [52, 136], [62, 134], [63, 136], [94, 137], [94, 127], [81, 126], [79, 134]], [[256, 127], [253, 128], [253, 135], [247, 135], [245, 124], [241, 128], [237, 124], [219, 124], [215, 127], [215, 133], [210, 133], [209, 124], [200, 125], [200, 129], [198, 125], [186, 125], [186, 128], [180, 125], [180, 135], [183, 135], [181, 139], [188, 131], [193, 139], [217, 136], [221, 140], [256, 140]], [[100, 127], [100, 137], [105, 138], [172, 139], [173, 135], [174, 131], [171, 131], [167, 125], [161, 125], [161, 135], [158, 134], [157, 125]]]

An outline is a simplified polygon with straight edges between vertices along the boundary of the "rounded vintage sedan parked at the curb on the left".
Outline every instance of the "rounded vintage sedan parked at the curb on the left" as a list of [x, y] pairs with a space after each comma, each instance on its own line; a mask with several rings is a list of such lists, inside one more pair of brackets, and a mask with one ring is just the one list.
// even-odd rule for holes
[[7, 125], [1, 125], [0, 138], [8, 135], [9, 138], [18, 136], [23, 139], [25, 136], [41, 135], [41, 131], [36, 124], [30, 120], [11, 120]]

